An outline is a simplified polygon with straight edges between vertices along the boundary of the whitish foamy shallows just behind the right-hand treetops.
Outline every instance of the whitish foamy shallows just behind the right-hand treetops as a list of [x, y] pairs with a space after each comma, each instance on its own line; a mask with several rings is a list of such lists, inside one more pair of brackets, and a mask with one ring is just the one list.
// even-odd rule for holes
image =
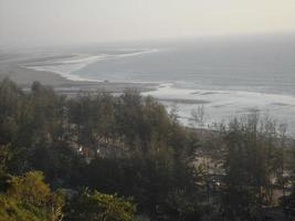
[[292, 95], [178, 88], [173, 84], [164, 84], [157, 91], [144, 95], [162, 101], [168, 110], [176, 105], [180, 122], [187, 126], [191, 123], [191, 110], [203, 105], [207, 124], [226, 122], [256, 109], [262, 116], [267, 115], [278, 123], [287, 124], [289, 133], [295, 134], [295, 96]]

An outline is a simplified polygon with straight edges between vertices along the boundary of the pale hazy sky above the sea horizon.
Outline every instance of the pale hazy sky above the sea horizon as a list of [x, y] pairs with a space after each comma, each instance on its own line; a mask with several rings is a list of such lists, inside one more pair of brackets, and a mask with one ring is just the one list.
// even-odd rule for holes
[[295, 0], [0, 0], [0, 45], [295, 31]]

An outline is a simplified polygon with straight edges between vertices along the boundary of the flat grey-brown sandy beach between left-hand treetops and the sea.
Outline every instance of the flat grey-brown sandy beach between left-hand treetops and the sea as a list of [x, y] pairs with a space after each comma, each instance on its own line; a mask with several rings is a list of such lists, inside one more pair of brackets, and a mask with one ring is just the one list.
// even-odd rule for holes
[[54, 72], [36, 71], [23, 66], [23, 61], [10, 56], [0, 56], [0, 80], [9, 77], [22, 88], [30, 88], [34, 81], [52, 86], [56, 92], [63, 94], [76, 94], [78, 92], [104, 91], [120, 93], [126, 88], [136, 88], [140, 92], [155, 90], [155, 84], [119, 83], [119, 82], [87, 82], [71, 81]]

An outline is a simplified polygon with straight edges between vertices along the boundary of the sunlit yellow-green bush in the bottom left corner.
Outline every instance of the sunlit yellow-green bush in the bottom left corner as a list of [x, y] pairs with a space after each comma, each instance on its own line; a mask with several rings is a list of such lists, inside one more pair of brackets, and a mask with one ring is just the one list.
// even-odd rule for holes
[[8, 190], [0, 194], [2, 221], [60, 221], [63, 193], [52, 192], [38, 171], [11, 177]]

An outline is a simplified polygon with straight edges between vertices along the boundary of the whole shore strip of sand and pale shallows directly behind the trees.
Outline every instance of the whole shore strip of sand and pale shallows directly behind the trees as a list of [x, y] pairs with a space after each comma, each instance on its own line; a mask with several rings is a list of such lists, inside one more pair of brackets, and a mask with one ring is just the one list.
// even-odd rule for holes
[[[1, 55], [1, 54], [0, 54]], [[72, 55], [71, 55], [72, 57]], [[70, 59], [71, 59], [70, 57]], [[69, 55], [62, 55], [69, 59]], [[75, 60], [67, 60], [75, 63]], [[243, 117], [259, 110], [261, 116], [270, 116], [280, 124], [287, 124], [288, 131], [295, 134], [295, 96], [246, 91], [215, 91], [177, 87], [173, 83], [149, 82], [109, 82], [69, 78], [59, 70], [44, 69], [46, 64], [64, 64], [60, 56], [36, 57], [0, 57], [0, 80], [9, 77], [24, 90], [29, 90], [34, 81], [54, 88], [55, 92], [67, 96], [78, 93], [123, 93], [126, 88], [138, 90], [144, 96], [157, 98], [168, 112], [176, 110], [182, 125], [191, 124], [191, 113], [200, 106], [206, 110], [206, 124], [226, 122], [233, 117]], [[35, 64], [36, 67], [34, 66]], [[28, 66], [27, 66], [28, 65]], [[44, 66], [42, 66], [44, 65]], [[54, 65], [53, 65], [54, 66]], [[35, 69], [34, 69], [35, 67]], [[74, 66], [76, 67], [76, 66]], [[43, 70], [42, 70], [43, 69]], [[70, 72], [65, 72], [71, 75]], [[225, 88], [224, 88], [225, 90]]]

